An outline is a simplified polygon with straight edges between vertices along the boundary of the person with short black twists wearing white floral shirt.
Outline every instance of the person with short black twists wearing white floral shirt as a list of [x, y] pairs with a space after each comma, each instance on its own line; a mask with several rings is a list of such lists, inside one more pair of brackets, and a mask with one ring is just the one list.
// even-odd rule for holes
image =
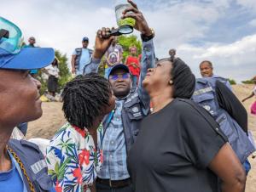
[[106, 78], [91, 73], [67, 82], [62, 99], [67, 124], [47, 149], [49, 175], [56, 191], [90, 191], [102, 166], [99, 125], [114, 108], [113, 93]]

